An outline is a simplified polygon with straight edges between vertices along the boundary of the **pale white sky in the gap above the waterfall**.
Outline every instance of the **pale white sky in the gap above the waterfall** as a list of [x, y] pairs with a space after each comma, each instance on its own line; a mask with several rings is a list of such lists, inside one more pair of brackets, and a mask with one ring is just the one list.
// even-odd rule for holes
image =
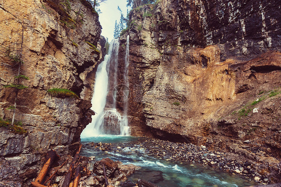
[[113, 39], [115, 20], [117, 20], [117, 23], [120, 20], [120, 12], [117, 9], [118, 5], [122, 10], [123, 15], [126, 16], [126, 0], [107, 0], [100, 3], [99, 6], [99, 9], [101, 10], [101, 13], [98, 14], [99, 22], [102, 26], [101, 35], [108, 37], [109, 42]]

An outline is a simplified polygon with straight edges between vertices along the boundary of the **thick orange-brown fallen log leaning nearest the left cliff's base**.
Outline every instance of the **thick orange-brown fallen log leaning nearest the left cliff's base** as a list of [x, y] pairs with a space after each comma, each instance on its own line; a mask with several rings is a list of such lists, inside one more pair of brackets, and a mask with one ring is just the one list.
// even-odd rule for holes
[[54, 150], [49, 150], [45, 156], [45, 164], [43, 165], [41, 171], [39, 172], [37, 178], [35, 179], [35, 183], [42, 183], [44, 180], [45, 175], [48, 172], [49, 167], [51, 166], [52, 162], [55, 160], [55, 158], [58, 157], [56, 152]]

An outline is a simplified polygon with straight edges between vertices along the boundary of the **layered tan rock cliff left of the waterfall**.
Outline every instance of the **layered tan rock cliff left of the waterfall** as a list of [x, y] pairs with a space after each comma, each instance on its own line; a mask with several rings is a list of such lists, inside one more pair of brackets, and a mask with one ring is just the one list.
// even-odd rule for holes
[[[17, 171], [33, 168], [40, 154], [54, 149], [71, 153], [91, 120], [91, 86], [86, 80], [97, 63], [101, 26], [85, 0], [0, 2], [0, 118], [11, 119], [18, 69], [20, 78], [15, 120], [25, 134], [0, 127], [0, 156]], [[20, 58], [20, 68], [15, 66]], [[50, 88], [66, 88], [80, 98], [52, 97]], [[85, 99], [84, 99], [85, 98]], [[36, 168], [34, 166], [34, 168]]]

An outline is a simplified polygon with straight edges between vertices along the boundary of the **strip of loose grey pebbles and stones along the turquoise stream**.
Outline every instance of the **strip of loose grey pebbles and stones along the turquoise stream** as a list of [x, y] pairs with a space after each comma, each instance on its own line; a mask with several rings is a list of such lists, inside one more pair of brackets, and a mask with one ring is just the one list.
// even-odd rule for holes
[[[254, 180], [262, 184], [271, 183], [270, 178], [263, 176], [256, 171], [252, 161], [240, 159], [233, 153], [223, 151], [210, 151], [205, 146], [196, 146], [191, 143], [171, 142], [160, 139], [139, 138], [131, 142], [117, 143], [95, 143], [90, 142], [84, 145], [85, 148], [102, 150], [104, 152], [122, 152], [124, 149], [128, 154], [134, 154], [137, 147], [145, 154], [164, 160], [179, 161], [186, 164], [199, 163], [218, 168], [228, 173]], [[131, 150], [131, 151], [130, 151]]]

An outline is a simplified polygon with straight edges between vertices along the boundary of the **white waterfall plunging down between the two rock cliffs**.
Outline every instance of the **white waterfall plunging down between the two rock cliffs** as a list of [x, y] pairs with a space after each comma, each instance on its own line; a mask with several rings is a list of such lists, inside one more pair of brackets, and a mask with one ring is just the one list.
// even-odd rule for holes
[[[109, 53], [104, 56], [104, 60], [97, 66], [95, 74], [95, 83], [92, 96], [92, 107], [95, 111], [95, 115], [92, 116], [92, 121], [82, 131], [81, 137], [98, 136], [100, 134], [120, 134], [129, 135], [129, 126], [127, 119], [127, 99], [123, 103], [123, 114], [121, 115], [116, 109], [117, 91], [116, 87], [119, 85], [125, 85], [128, 88], [128, 51], [129, 51], [129, 37], [127, 36], [125, 64], [124, 64], [124, 83], [117, 84], [118, 73], [118, 49], [119, 42], [113, 39], [110, 42]], [[108, 82], [111, 71], [109, 72], [109, 66], [113, 68], [113, 76], [111, 84]], [[109, 90], [112, 89], [111, 100], [113, 103], [110, 105], [110, 100], [106, 100]], [[114, 89], [113, 89], [114, 88]], [[125, 96], [128, 98], [128, 90], [125, 91]], [[109, 98], [112, 98], [109, 96]], [[105, 106], [109, 107], [105, 107]]]

